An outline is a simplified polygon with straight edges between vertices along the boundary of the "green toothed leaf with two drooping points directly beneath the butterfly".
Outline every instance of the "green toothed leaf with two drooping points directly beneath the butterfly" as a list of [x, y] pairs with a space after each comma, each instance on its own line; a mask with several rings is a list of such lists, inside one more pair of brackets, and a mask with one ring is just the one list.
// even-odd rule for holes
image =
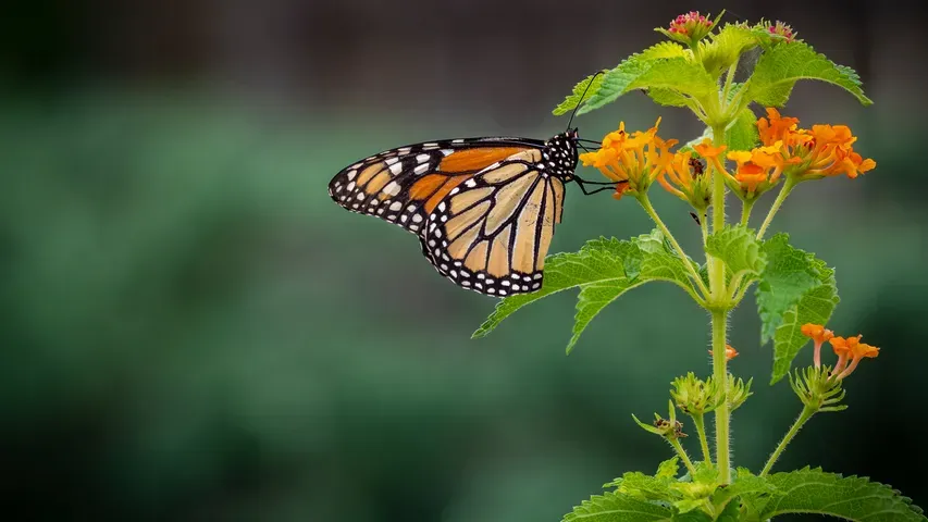
[[579, 252], [549, 256], [545, 260], [542, 288], [500, 300], [473, 337], [485, 336], [525, 304], [568, 288], [580, 288], [573, 336], [567, 346], [570, 352], [580, 334], [603, 308], [626, 291], [651, 281], [668, 281], [689, 293], [694, 291], [685, 264], [667, 247], [660, 231], [627, 241], [594, 239]]

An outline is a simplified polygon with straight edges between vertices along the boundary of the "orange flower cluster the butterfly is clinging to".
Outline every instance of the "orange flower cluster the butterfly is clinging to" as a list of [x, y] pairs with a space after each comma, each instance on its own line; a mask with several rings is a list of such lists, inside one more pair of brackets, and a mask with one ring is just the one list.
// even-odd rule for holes
[[619, 183], [613, 195], [616, 199], [626, 192], [644, 194], [673, 158], [669, 149], [677, 144], [676, 139], [659, 138], [658, 125], [659, 117], [646, 132], [628, 134], [622, 122], [618, 130], [603, 138], [603, 146], [598, 150], [580, 154], [580, 161], [584, 166], [595, 166], [604, 176]]

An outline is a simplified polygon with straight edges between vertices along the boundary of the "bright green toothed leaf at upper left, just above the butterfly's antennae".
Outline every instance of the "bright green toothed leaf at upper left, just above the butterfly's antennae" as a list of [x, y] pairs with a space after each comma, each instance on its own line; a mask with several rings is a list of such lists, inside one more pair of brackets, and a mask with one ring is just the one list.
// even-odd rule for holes
[[634, 89], [670, 89], [681, 96], [701, 98], [715, 94], [718, 87], [706, 70], [689, 58], [633, 57], [606, 73], [599, 90], [577, 113], [585, 114]]

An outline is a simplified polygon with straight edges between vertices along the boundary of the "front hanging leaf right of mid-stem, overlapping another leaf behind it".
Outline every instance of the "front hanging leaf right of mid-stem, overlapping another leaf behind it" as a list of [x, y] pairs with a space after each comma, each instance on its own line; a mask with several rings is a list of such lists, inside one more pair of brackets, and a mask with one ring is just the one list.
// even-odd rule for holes
[[762, 345], [774, 337], [777, 327], [783, 322], [783, 314], [795, 307], [805, 293], [822, 284], [830, 275], [824, 261], [793, 248], [789, 240], [789, 234], [781, 233], [764, 241], [767, 266], [755, 291]]

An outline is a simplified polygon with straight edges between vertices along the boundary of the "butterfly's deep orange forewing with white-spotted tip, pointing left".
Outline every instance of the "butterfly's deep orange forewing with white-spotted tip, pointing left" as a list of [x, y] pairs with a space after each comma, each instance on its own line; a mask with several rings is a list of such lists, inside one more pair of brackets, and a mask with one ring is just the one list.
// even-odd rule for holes
[[329, 195], [347, 210], [376, 215], [421, 236], [425, 219], [451, 190], [487, 165], [543, 145], [490, 137], [400, 147], [342, 170], [329, 183]]

